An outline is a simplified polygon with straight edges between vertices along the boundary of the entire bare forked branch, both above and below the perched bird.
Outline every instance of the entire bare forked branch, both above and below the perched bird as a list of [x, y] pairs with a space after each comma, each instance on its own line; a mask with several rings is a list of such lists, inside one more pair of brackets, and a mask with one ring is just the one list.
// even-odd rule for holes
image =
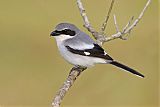
[[[79, 8], [80, 14], [83, 18], [84, 21], [84, 27], [92, 33], [93, 37], [96, 39], [97, 43], [99, 45], [102, 45], [104, 42], [108, 42], [117, 38], [120, 38], [122, 40], [126, 40], [127, 38], [124, 38], [125, 34], [129, 34], [131, 30], [138, 24], [138, 22], [141, 20], [142, 16], [144, 15], [144, 12], [146, 11], [147, 7], [151, 3], [151, 0], [148, 0], [146, 5], [144, 6], [143, 10], [141, 11], [140, 15], [138, 16], [137, 19], [131, 24], [131, 21], [133, 21], [133, 17], [129, 20], [129, 22], [126, 24], [126, 26], [123, 28], [122, 31], [119, 30], [118, 24], [116, 21], [116, 16], [114, 15], [114, 24], [116, 28], [116, 33], [111, 35], [111, 36], [105, 36], [104, 30], [107, 26], [107, 21], [109, 19], [114, 0], [111, 2], [111, 6], [109, 8], [108, 14], [106, 16], [106, 19], [104, 23], [102, 24], [101, 32], [97, 32], [90, 24], [88, 17], [86, 15], [85, 9], [83, 7], [83, 4], [81, 0], [76, 0], [77, 1], [77, 6]], [[53, 99], [52, 102], [52, 107], [60, 107], [60, 104], [65, 96], [65, 94], [68, 92], [70, 87], [73, 85], [75, 82], [76, 78], [80, 75], [82, 71], [84, 71], [86, 68], [84, 67], [73, 67], [70, 71], [69, 76], [67, 77], [67, 80], [63, 83], [62, 87], [59, 89], [58, 93]]]

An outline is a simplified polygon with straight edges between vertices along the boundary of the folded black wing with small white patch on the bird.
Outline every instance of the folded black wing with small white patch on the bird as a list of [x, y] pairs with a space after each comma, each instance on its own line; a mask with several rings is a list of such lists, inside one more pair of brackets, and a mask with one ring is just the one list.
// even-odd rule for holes
[[74, 54], [90, 56], [90, 57], [98, 57], [106, 60], [113, 60], [109, 55], [106, 54], [103, 48], [101, 48], [98, 44], [94, 44], [94, 47], [92, 49], [78, 50], [78, 49], [73, 49], [70, 46], [66, 46], [66, 48], [68, 49], [68, 51]]

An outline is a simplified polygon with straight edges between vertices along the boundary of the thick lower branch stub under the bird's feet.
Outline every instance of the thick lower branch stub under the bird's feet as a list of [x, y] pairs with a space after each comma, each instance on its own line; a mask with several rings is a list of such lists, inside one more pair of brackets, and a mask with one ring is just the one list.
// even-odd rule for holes
[[63, 83], [62, 87], [59, 89], [58, 93], [54, 97], [53, 102], [52, 102], [52, 107], [60, 107], [60, 104], [61, 104], [65, 94], [68, 92], [70, 87], [73, 85], [73, 83], [76, 80], [76, 78], [85, 69], [87, 69], [87, 68], [84, 68], [84, 67], [73, 67], [71, 69], [68, 78]]

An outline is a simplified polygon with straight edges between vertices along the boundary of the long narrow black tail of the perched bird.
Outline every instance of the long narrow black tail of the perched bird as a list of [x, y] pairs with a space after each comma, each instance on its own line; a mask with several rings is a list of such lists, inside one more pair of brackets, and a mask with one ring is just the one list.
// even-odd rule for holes
[[121, 64], [119, 62], [113, 61], [113, 62], [110, 62], [110, 64], [115, 65], [117, 67], [120, 67], [120, 68], [122, 68], [122, 69], [124, 69], [124, 70], [126, 70], [126, 71], [128, 71], [128, 72], [130, 72], [132, 74], [135, 74], [137, 76], [140, 76], [140, 77], [144, 78], [144, 75], [142, 75], [141, 73], [139, 73], [139, 72], [135, 71], [134, 69], [129, 68], [128, 66], [123, 65], [123, 64]]

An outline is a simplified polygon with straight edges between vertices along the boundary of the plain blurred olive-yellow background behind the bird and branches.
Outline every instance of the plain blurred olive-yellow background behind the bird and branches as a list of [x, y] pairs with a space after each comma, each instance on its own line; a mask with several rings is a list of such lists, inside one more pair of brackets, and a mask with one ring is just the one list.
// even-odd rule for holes
[[[147, 0], [116, 0], [106, 34], [114, 34], [113, 14], [122, 29]], [[82, 0], [99, 31], [111, 0]], [[75, 0], [0, 1], [0, 107], [50, 107], [72, 65], [60, 56], [50, 32], [60, 22], [84, 27]], [[158, 0], [152, 0], [127, 41], [103, 48], [143, 73], [138, 78], [111, 65], [96, 65], [77, 79], [62, 107], [158, 107]]]

